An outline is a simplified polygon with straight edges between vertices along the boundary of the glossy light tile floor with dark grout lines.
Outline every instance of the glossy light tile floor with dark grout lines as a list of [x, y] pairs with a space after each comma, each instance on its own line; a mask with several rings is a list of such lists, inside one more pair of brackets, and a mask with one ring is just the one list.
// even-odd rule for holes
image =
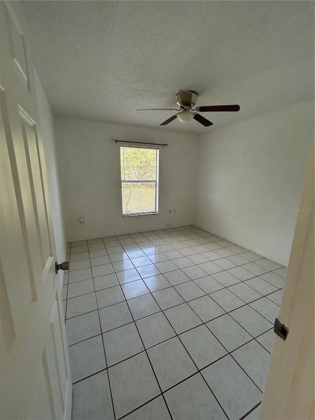
[[258, 419], [286, 268], [195, 226], [72, 242], [72, 419]]

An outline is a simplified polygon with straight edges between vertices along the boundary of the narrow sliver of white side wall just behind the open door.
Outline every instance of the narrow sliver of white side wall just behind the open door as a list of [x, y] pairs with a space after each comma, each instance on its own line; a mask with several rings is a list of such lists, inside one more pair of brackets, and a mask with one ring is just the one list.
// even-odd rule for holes
[[[63, 212], [59, 172], [57, 167], [57, 154], [54, 135], [54, 119], [48, 99], [45, 95], [36, 70], [34, 70], [35, 90], [38, 103], [39, 121], [44, 146], [50, 206], [53, 219], [54, 236], [58, 261], [66, 258], [66, 239], [64, 235]], [[61, 277], [63, 272], [60, 271]]]

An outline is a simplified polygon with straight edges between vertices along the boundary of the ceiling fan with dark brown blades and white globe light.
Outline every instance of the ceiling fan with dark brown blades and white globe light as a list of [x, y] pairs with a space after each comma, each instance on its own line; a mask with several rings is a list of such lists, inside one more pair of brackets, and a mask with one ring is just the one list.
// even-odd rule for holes
[[166, 126], [176, 118], [179, 119], [182, 123], [188, 123], [192, 119], [198, 121], [205, 127], [210, 127], [213, 123], [201, 115], [197, 114], [198, 112], [222, 112], [222, 111], [239, 111], [240, 105], [211, 105], [211, 106], [195, 106], [198, 98], [198, 94], [193, 91], [184, 91], [179, 90], [176, 95], [176, 102], [180, 109], [177, 108], [143, 108], [137, 109], [137, 111], [179, 111], [177, 114], [168, 118], [166, 121], [163, 121], [160, 126]]

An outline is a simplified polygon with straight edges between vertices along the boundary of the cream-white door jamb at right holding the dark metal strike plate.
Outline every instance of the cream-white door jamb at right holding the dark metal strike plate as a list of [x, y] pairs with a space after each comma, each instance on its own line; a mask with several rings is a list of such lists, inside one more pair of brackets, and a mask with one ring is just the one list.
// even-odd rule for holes
[[[260, 418], [314, 420], [314, 147], [304, 181]], [[312, 212], [313, 209], [313, 212]]]

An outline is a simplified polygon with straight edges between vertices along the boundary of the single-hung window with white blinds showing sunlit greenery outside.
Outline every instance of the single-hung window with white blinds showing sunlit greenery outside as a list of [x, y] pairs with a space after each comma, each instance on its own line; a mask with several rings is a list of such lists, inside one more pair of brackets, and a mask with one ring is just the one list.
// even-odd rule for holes
[[158, 213], [158, 149], [120, 148], [123, 216]]

